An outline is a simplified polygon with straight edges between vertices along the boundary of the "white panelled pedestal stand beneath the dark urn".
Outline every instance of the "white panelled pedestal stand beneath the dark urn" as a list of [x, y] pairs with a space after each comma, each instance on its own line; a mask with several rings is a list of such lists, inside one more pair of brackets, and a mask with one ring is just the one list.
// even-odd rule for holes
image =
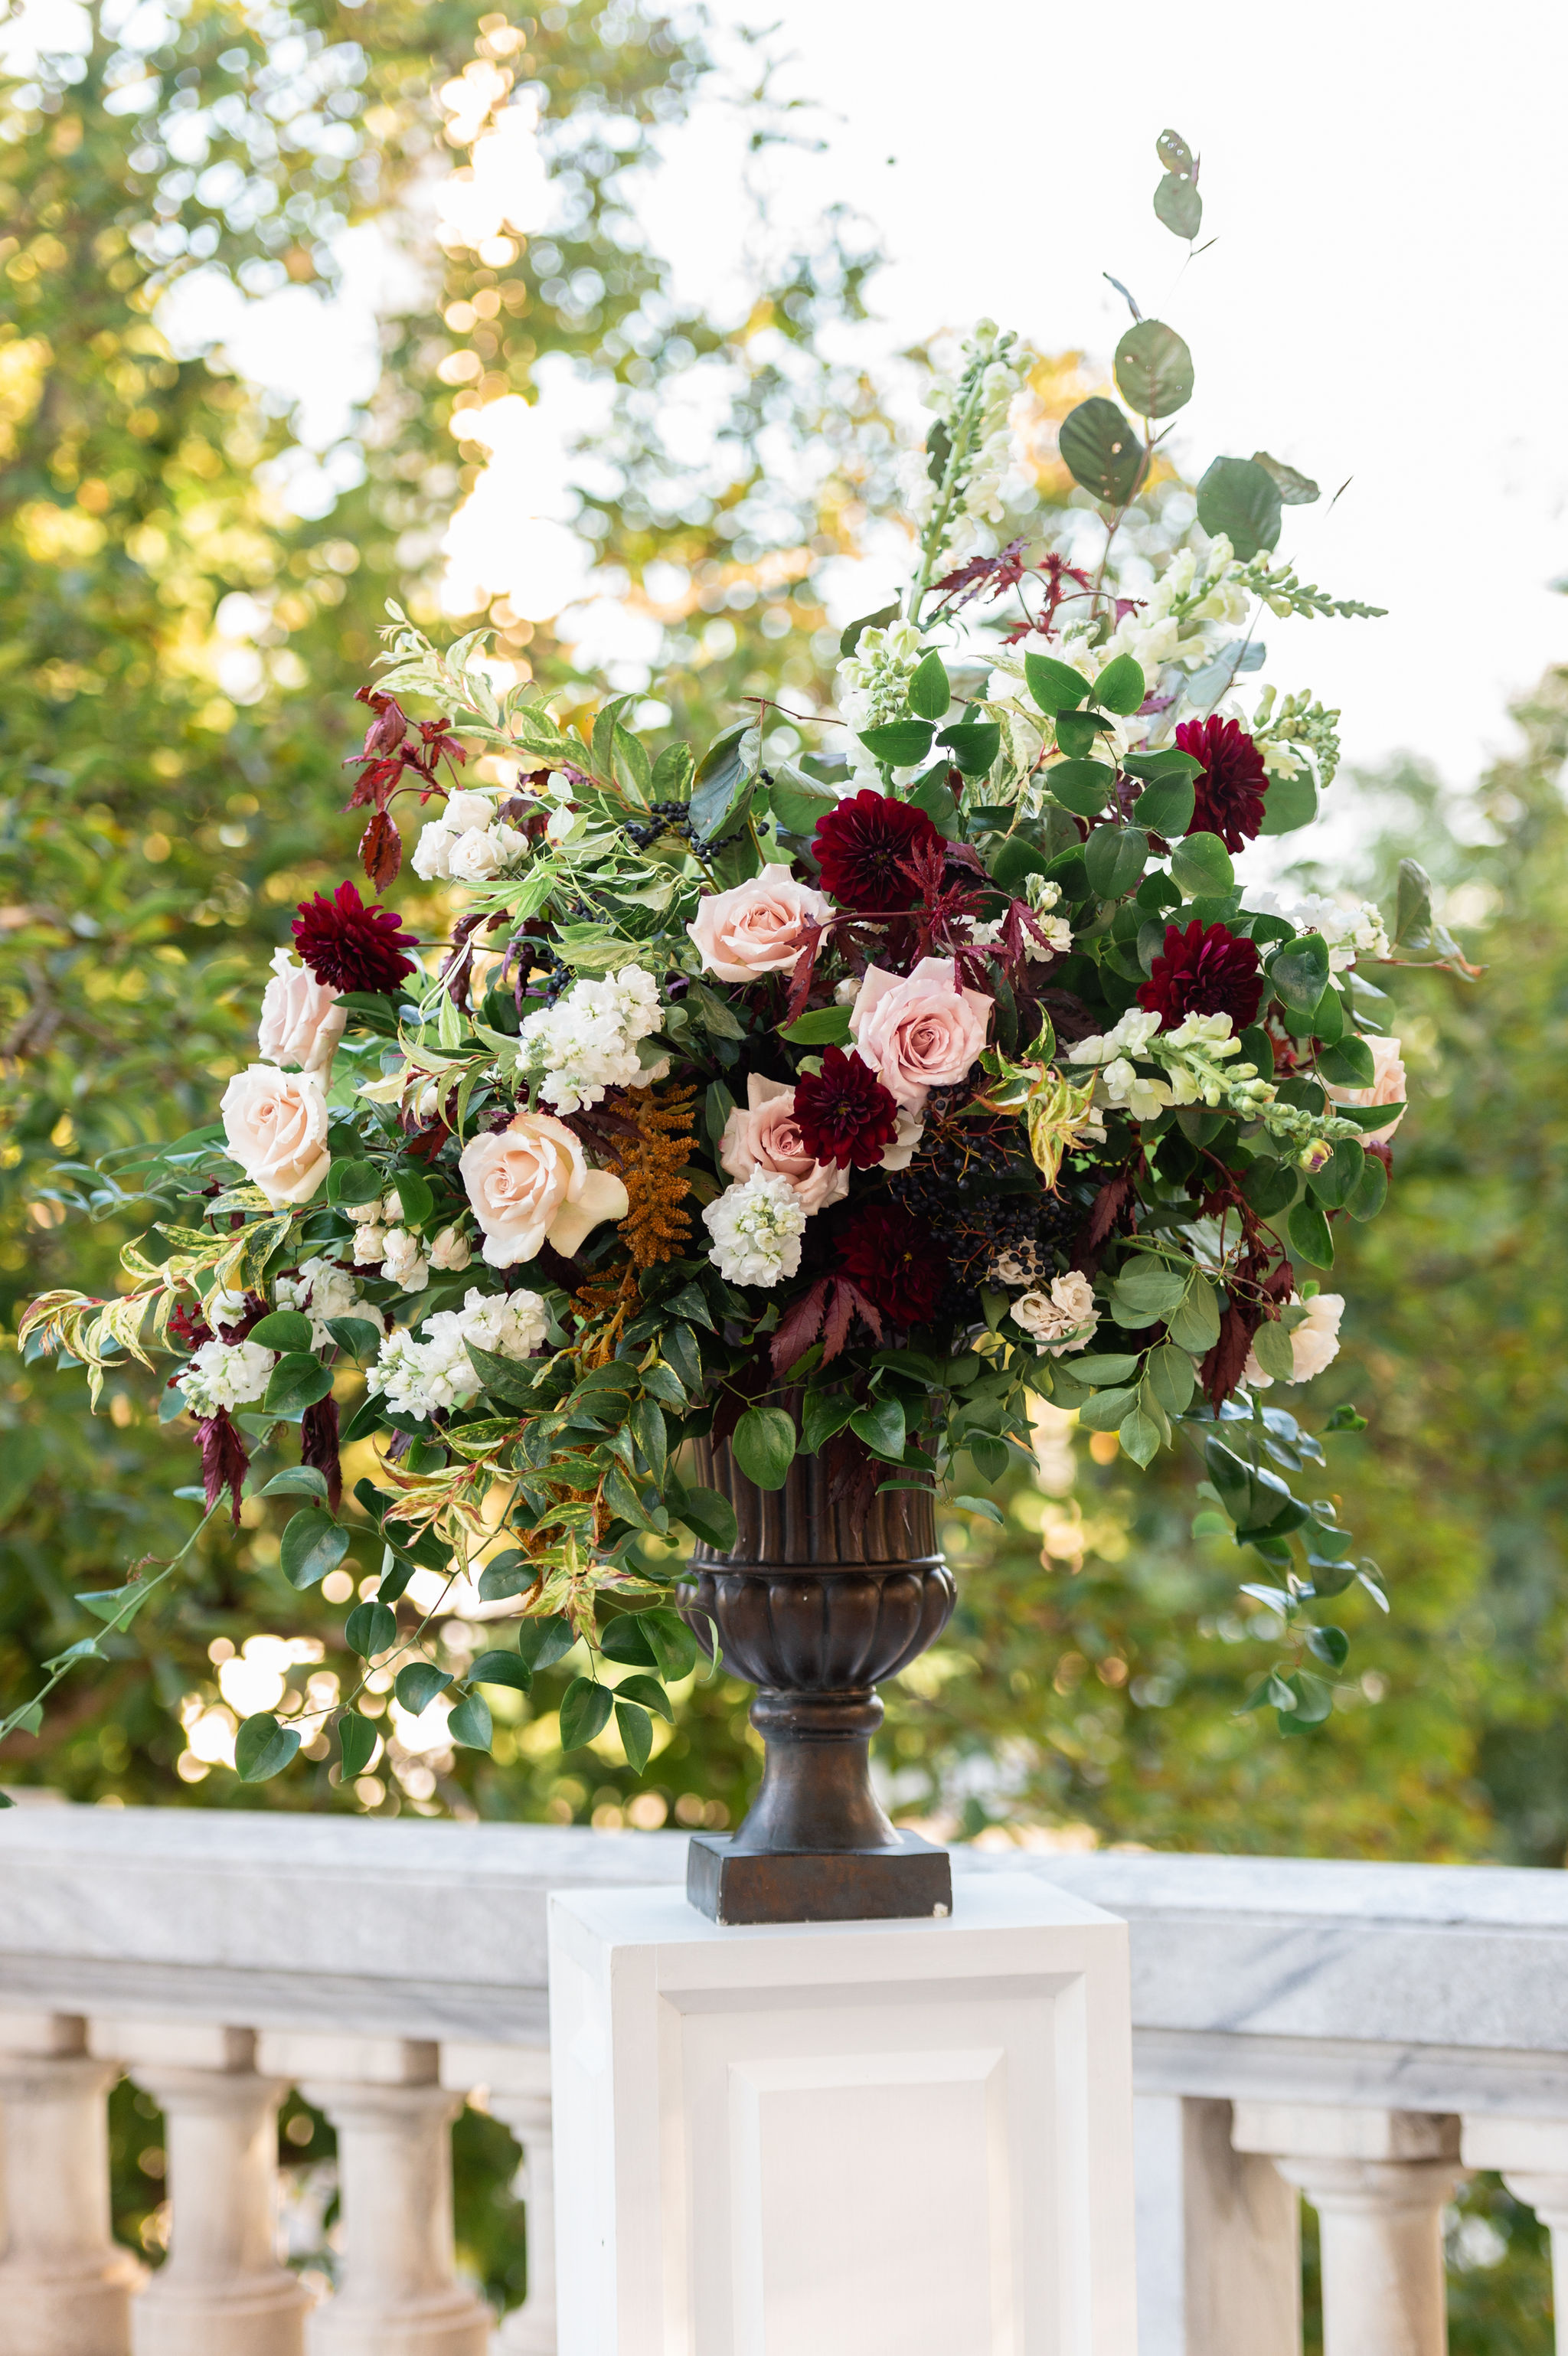
[[551, 1899], [560, 2356], [1132, 2356], [1128, 1932]]

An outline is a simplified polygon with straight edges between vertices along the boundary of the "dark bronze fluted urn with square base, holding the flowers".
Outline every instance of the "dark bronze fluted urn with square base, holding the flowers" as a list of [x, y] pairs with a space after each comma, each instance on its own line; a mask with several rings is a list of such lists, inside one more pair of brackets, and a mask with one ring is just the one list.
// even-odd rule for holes
[[831, 1461], [796, 1456], [758, 1489], [727, 1442], [697, 1442], [697, 1480], [735, 1505], [727, 1555], [697, 1546], [683, 1590], [706, 1652], [758, 1687], [763, 1788], [732, 1840], [692, 1840], [687, 1897], [720, 1922], [930, 1915], [951, 1906], [944, 1849], [899, 1833], [871, 1788], [876, 1687], [897, 1677], [954, 1609], [930, 1494], [857, 1501]]

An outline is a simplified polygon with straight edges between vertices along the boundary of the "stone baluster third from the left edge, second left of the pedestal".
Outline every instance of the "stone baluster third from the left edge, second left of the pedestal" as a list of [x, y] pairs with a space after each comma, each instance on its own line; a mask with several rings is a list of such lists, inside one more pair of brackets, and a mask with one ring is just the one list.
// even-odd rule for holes
[[337, 2127], [341, 2274], [315, 2309], [311, 2356], [485, 2356], [490, 2307], [457, 2283], [452, 2118], [436, 2045], [264, 2033], [259, 2066], [292, 2078]]

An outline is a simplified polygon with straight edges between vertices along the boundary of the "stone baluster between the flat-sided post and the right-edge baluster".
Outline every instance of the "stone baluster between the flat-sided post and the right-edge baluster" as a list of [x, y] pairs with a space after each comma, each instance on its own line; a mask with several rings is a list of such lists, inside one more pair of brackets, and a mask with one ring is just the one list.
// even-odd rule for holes
[[1460, 2120], [1311, 2102], [1238, 2102], [1238, 2151], [1264, 2153], [1318, 2212], [1326, 2356], [1446, 2356], [1443, 2208]]

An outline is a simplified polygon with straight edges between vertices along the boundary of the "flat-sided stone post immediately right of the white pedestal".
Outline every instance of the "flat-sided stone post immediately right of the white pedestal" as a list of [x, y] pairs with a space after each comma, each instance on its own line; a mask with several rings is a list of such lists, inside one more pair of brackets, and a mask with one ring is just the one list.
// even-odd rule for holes
[[1231, 2104], [1140, 2094], [1140, 2356], [1302, 2356], [1302, 2203]]

